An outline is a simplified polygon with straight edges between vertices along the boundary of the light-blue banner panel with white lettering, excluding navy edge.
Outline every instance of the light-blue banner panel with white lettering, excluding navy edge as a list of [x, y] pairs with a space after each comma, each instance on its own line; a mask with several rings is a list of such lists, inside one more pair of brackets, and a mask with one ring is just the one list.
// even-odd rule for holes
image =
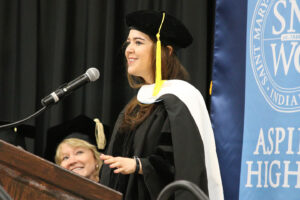
[[249, 0], [241, 200], [300, 199], [300, 1]]

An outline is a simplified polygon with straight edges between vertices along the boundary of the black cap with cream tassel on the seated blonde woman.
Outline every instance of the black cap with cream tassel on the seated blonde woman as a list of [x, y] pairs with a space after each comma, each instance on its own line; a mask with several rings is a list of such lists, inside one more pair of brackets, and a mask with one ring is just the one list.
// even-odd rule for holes
[[82, 139], [95, 145], [100, 151], [106, 144], [104, 127], [99, 119], [92, 120], [85, 115], [79, 115], [48, 129], [45, 158], [54, 162], [57, 146], [67, 138]]

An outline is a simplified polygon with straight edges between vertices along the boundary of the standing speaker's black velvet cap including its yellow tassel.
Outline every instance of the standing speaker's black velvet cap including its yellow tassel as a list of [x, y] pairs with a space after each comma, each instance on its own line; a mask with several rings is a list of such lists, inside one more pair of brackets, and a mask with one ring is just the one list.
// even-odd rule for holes
[[162, 11], [141, 10], [126, 15], [126, 24], [132, 29], [156, 38], [156, 76], [153, 96], [163, 84], [161, 79], [161, 42], [174, 48], [185, 48], [193, 42], [188, 29], [181, 21]]

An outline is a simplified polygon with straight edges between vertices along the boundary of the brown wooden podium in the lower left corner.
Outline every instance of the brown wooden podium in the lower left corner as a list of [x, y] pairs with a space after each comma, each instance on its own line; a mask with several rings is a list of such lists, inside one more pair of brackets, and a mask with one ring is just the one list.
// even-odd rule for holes
[[121, 200], [122, 194], [0, 140], [0, 185], [14, 200]]

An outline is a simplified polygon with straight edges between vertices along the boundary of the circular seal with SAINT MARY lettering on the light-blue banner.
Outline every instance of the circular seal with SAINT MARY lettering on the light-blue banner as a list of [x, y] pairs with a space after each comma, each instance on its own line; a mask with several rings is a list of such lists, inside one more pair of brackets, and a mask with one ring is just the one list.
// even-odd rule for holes
[[250, 27], [256, 83], [279, 112], [300, 111], [300, 1], [258, 0]]

